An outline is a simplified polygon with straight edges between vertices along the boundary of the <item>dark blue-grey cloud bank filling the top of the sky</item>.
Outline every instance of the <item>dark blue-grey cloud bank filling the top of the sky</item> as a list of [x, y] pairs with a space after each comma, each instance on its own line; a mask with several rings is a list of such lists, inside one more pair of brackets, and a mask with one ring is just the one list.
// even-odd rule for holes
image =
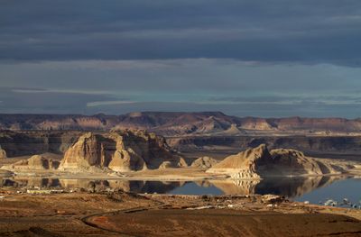
[[361, 65], [361, 2], [10, 1], [0, 59], [232, 58]]

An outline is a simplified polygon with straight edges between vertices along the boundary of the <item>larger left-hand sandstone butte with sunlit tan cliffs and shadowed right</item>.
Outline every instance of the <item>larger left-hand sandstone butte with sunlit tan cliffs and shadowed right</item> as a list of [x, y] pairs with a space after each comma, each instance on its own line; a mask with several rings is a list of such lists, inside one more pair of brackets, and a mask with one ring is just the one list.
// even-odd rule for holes
[[164, 139], [143, 131], [122, 131], [82, 135], [65, 152], [60, 169], [112, 169], [131, 171], [158, 169], [164, 162], [171, 167], [185, 166], [184, 160], [171, 152]]

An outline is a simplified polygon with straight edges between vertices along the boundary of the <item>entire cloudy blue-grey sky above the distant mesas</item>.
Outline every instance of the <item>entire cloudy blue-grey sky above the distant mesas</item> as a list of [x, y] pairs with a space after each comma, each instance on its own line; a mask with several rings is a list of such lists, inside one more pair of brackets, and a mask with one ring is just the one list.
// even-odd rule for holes
[[0, 114], [361, 117], [359, 0], [0, 0]]

